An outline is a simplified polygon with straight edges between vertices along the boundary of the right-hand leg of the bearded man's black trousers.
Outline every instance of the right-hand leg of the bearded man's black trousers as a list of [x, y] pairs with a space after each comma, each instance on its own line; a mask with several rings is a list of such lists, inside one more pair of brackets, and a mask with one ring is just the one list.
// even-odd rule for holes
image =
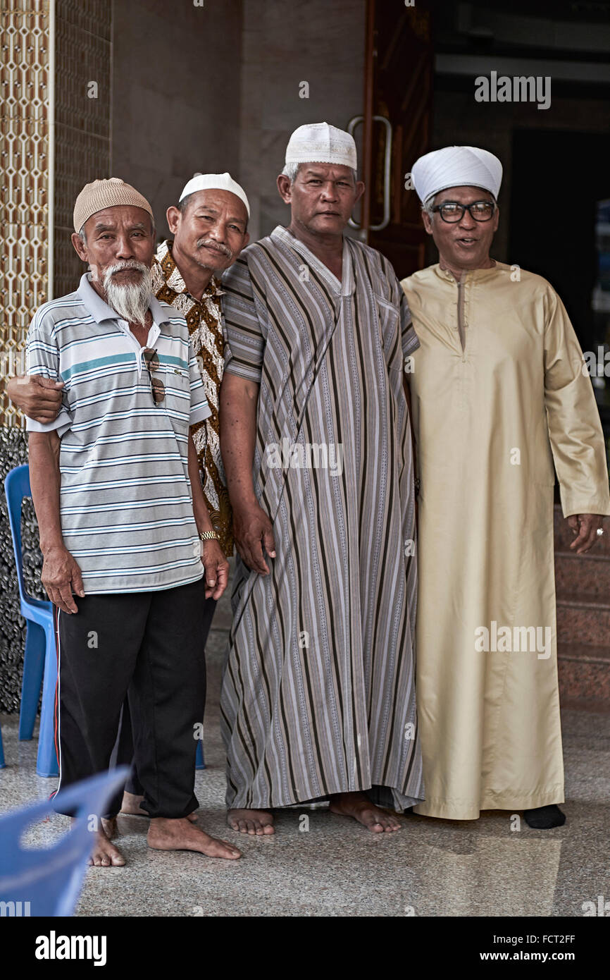
[[156, 592], [129, 691], [142, 809], [184, 817], [197, 809], [194, 737], [206, 700], [203, 580]]

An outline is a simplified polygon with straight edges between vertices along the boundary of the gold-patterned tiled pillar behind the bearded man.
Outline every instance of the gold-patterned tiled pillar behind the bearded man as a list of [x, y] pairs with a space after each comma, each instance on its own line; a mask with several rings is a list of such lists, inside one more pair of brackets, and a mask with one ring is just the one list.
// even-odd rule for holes
[[[111, 175], [111, 28], [107, 0], [0, 0], [0, 373], [5, 376], [23, 370], [25, 334], [36, 308], [50, 296], [71, 292], [83, 271], [70, 242], [71, 214], [83, 184]], [[53, 136], [54, 273], [49, 289]], [[23, 425], [4, 392], [0, 424]]]

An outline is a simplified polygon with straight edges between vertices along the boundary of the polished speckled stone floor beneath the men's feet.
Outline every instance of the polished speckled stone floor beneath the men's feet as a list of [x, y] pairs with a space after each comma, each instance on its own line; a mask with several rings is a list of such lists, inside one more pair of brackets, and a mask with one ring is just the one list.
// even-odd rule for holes
[[[149, 851], [147, 822], [118, 818], [123, 868], [90, 868], [78, 915], [570, 915], [610, 899], [610, 715], [563, 714], [568, 822], [521, 828], [511, 814], [477, 821], [409, 816], [401, 831], [375, 836], [326, 809], [287, 809], [277, 833], [248, 838], [224, 824], [223, 753], [218, 731], [220, 664], [228, 598], [208, 645], [208, 768], [197, 774], [199, 821], [241, 847], [239, 861]], [[1, 719], [7, 767], [0, 811], [44, 799], [57, 780], [35, 775], [36, 743], [17, 740], [17, 715]], [[32, 844], [61, 834], [54, 815], [28, 834]]]

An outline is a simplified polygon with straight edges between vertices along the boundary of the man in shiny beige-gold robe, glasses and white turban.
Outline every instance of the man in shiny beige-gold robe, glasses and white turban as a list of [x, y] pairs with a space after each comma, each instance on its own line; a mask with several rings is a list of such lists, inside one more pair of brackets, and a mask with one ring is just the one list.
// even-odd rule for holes
[[553, 463], [582, 554], [610, 514], [599, 416], [553, 288], [490, 258], [499, 161], [446, 147], [412, 175], [440, 256], [401, 283], [421, 345], [405, 368], [420, 479], [414, 809], [524, 809], [559, 826]]

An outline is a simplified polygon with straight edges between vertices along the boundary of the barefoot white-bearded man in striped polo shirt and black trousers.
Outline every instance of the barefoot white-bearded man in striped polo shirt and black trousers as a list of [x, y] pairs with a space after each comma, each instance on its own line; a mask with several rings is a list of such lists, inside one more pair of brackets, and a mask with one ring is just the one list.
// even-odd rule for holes
[[[205, 600], [219, 598], [228, 573], [189, 431], [210, 406], [185, 319], [151, 292], [146, 199], [117, 178], [87, 184], [72, 243], [90, 273], [44, 304], [27, 336], [28, 373], [65, 385], [54, 420], [27, 419], [57, 622], [56, 809], [65, 787], [108, 767], [129, 691], [149, 846], [239, 858], [187, 819], [198, 806]], [[111, 817], [119, 805], [118, 796]], [[124, 863], [109, 828], [95, 864]]]

